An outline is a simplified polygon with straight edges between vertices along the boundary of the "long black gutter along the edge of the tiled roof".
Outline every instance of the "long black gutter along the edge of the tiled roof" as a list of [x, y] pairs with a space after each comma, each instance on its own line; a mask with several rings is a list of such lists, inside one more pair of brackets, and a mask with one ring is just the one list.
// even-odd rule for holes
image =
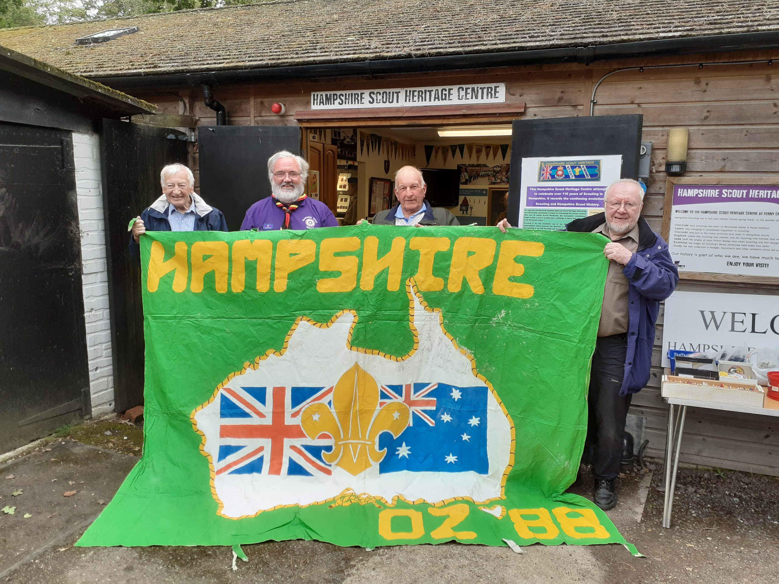
[[[260, 80], [300, 80], [353, 76], [373, 77], [379, 75], [451, 71], [454, 69], [541, 65], [545, 63], [579, 62], [590, 64], [597, 61], [620, 58], [759, 51], [761, 49], [776, 48], [779, 48], [779, 31], [771, 30], [767, 32], [721, 34], [706, 37], [640, 40], [632, 43], [602, 44], [589, 47], [559, 47], [530, 51], [377, 59], [373, 61], [320, 63], [257, 69], [225, 69], [222, 71], [167, 73], [162, 75], [92, 77], [90, 79], [115, 89], [140, 90], [151, 87], [160, 89], [197, 86], [203, 83], [256, 83]], [[206, 93], [205, 88], [203, 93]], [[218, 102], [215, 103], [218, 104]], [[208, 105], [207, 102], [206, 105]]]

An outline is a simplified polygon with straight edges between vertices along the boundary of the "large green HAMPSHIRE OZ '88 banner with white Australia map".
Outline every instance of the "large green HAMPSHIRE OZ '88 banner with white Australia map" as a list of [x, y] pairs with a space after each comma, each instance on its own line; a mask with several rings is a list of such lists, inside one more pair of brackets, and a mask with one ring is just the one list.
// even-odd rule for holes
[[626, 544], [563, 494], [603, 245], [492, 227], [147, 234], [143, 458], [79, 545]]

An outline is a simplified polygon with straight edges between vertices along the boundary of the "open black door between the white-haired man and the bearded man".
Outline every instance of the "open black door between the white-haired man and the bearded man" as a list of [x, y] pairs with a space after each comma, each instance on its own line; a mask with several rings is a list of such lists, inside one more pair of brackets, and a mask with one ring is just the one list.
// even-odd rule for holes
[[246, 209], [270, 196], [268, 159], [279, 150], [300, 154], [296, 125], [206, 125], [198, 128], [200, 195], [217, 207], [231, 231]]

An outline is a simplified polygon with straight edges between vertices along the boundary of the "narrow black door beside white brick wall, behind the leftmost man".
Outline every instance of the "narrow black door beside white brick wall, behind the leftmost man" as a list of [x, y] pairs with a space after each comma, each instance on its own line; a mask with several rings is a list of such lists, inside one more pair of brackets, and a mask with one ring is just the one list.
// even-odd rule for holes
[[187, 164], [183, 134], [103, 120], [103, 199], [116, 411], [143, 403], [143, 310], [140, 265], [129, 256], [127, 223], [162, 194], [160, 171]]

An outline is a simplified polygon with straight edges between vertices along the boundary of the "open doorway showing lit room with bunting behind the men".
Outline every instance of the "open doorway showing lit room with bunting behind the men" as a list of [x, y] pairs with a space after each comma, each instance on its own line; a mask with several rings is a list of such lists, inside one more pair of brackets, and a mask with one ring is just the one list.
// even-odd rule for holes
[[[395, 205], [394, 175], [418, 167], [426, 198], [462, 224], [492, 225], [504, 211], [510, 178], [511, 125], [406, 125], [304, 130], [308, 193], [340, 223], [371, 219]], [[495, 199], [495, 200], [493, 200]]]

